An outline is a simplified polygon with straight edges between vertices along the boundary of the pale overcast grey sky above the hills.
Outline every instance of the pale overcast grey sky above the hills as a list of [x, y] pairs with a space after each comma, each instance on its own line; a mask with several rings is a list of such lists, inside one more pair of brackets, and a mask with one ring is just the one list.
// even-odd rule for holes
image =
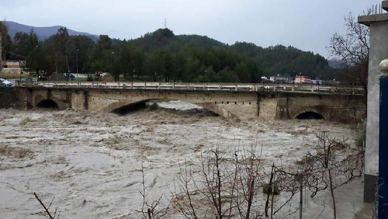
[[343, 17], [362, 14], [379, 0], [0, 0], [1, 19], [31, 26], [138, 38], [167, 27], [224, 43], [283, 44], [328, 57], [326, 46], [343, 33]]

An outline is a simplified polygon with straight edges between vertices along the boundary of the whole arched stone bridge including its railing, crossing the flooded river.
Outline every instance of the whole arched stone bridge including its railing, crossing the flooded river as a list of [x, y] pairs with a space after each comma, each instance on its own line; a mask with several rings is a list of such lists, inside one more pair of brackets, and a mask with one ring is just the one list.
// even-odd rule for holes
[[[150, 100], [180, 100], [226, 118], [289, 119], [312, 115], [349, 121], [365, 116], [365, 97], [358, 87], [203, 84], [159, 82], [19, 83], [21, 108], [53, 104], [59, 109], [111, 112]], [[54, 104], [55, 103], [55, 104]]]

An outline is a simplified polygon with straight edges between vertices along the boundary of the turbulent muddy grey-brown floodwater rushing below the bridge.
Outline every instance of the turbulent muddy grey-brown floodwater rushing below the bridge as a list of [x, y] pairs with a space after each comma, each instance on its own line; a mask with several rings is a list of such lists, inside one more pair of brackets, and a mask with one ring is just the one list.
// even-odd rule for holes
[[[137, 219], [142, 163], [147, 200], [157, 200], [170, 195], [179, 165], [200, 151], [256, 145], [267, 164], [288, 165], [316, 144], [317, 132], [350, 143], [354, 135], [350, 125], [324, 120], [236, 121], [178, 101], [158, 105], [126, 115], [1, 109], [0, 218], [42, 218], [31, 216], [42, 210], [36, 192], [47, 204], [55, 197], [50, 209], [60, 219]], [[362, 189], [362, 178], [336, 189], [337, 218], [363, 218]], [[305, 218], [323, 206], [320, 218], [332, 218], [328, 192], [304, 206]]]

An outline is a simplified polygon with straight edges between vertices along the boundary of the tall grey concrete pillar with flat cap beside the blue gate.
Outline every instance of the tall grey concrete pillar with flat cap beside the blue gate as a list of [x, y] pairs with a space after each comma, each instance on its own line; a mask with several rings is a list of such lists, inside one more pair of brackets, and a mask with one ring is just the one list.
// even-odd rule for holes
[[[383, 5], [386, 3], [383, 1]], [[388, 13], [359, 16], [358, 22], [370, 27], [364, 202], [371, 203], [376, 197], [379, 172], [379, 64], [388, 59]]]

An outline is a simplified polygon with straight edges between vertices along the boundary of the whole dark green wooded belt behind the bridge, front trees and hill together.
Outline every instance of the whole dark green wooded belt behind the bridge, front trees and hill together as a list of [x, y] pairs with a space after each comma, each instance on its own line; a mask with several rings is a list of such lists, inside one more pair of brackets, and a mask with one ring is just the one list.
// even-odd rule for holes
[[[26, 68], [52, 72], [109, 72], [115, 80], [258, 83], [261, 76], [302, 75], [314, 78], [329, 70], [318, 54], [282, 45], [263, 48], [253, 43], [228, 45], [207, 36], [175, 35], [158, 29], [137, 39], [96, 41], [71, 35], [66, 27], [41, 41], [31, 30], [9, 36], [3, 33], [3, 59], [26, 60]], [[133, 77], [135, 76], [135, 77]]]

